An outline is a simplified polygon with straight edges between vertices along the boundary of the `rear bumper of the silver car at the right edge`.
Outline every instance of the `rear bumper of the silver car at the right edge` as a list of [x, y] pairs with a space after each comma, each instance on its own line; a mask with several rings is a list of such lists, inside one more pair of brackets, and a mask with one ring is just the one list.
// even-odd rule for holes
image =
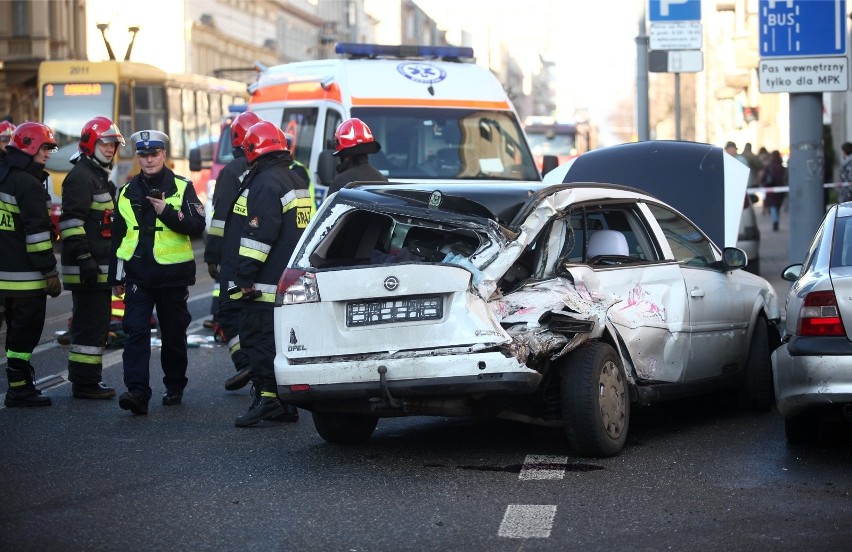
[[[816, 406], [852, 404], [852, 346], [845, 338], [830, 339], [836, 343], [829, 349], [850, 350], [849, 353], [802, 355], [804, 349], [815, 344], [798, 347], [785, 344], [772, 353], [772, 372], [775, 383], [775, 402], [785, 418], [792, 418]], [[801, 341], [801, 340], [800, 340]], [[842, 342], [846, 342], [844, 346]]]

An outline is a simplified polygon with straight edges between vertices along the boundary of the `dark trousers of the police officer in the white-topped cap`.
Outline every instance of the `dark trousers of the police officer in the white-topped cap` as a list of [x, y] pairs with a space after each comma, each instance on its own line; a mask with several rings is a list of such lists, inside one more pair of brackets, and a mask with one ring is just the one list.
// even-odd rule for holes
[[160, 325], [160, 364], [166, 389], [186, 387], [186, 329], [192, 317], [186, 306], [189, 288], [143, 288], [127, 284], [124, 292], [122, 328], [124, 344], [124, 385], [145, 402], [151, 399], [149, 363], [151, 361], [151, 315], [157, 309]]

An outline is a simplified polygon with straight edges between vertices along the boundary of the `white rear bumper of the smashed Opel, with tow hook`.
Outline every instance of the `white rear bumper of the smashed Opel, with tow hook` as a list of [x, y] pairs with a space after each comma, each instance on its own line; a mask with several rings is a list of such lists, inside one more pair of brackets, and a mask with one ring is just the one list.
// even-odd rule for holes
[[388, 391], [398, 398], [457, 397], [485, 393], [526, 394], [542, 375], [498, 353], [286, 364], [276, 358], [278, 396], [299, 402], [369, 399]]

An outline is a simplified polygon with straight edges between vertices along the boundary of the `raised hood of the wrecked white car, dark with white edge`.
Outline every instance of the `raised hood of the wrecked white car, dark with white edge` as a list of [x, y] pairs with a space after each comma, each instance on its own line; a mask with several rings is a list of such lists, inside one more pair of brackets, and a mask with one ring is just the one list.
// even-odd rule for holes
[[655, 140], [593, 150], [545, 175], [550, 184], [600, 182], [647, 192], [734, 247], [749, 169], [718, 146]]

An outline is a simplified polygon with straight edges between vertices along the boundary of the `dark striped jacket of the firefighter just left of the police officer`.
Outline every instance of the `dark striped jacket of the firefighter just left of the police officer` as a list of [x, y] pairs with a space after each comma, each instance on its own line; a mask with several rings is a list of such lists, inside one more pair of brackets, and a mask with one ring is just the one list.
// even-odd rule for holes
[[[62, 283], [66, 289], [109, 289], [107, 272], [111, 255], [112, 212], [115, 185], [109, 181], [109, 166], [80, 155], [71, 160], [74, 167], [62, 183]], [[101, 273], [97, 284], [80, 281], [80, 264], [89, 255]]]

